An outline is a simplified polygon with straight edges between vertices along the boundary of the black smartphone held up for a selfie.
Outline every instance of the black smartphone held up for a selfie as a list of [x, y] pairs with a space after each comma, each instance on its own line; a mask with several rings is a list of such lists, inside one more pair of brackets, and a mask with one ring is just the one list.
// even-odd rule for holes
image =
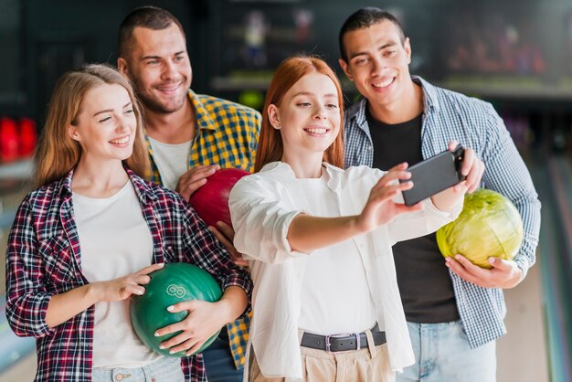
[[411, 178], [408, 180], [413, 182], [413, 188], [402, 193], [405, 205], [413, 206], [463, 181], [465, 178], [461, 175], [463, 153], [464, 149], [460, 144], [454, 152], [447, 150], [409, 167], [407, 171], [411, 173]]

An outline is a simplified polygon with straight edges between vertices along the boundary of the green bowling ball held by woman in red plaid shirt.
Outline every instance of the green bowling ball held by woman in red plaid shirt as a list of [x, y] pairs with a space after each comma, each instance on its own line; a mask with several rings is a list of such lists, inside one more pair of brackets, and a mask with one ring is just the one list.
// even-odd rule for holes
[[[217, 281], [207, 271], [184, 262], [165, 264], [161, 270], [150, 273], [149, 277], [151, 281], [145, 285], [143, 296], [132, 297], [131, 322], [135, 334], [139, 336], [143, 344], [161, 355], [186, 356], [185, 352], [171, 355], [169, 349], [159, 348], [162, 342], [181, 332], [154, 336], [157, 329], [178, 323], [188, 314], [187, 312], [170, 313], [167, 307], [177, 302], [190, 300], [217, 302], [222, 296], [222, 291]], [[194, 354], [202, 352], [212, 344], [219, 332], [220, 330]]]

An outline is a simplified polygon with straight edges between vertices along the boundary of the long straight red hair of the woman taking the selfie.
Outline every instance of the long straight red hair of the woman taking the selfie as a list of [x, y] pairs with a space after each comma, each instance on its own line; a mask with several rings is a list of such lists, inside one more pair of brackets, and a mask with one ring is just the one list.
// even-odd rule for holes
[[340, 132], [335, 137], [334, 143], [323, 152], [323, 162], [344, 167], [344, 99], [340, 81], [328, 64], [323, 59], [315, 57], [291, 57], [283, 60], [276, 69], [270, 87], [266, 92], [266, 101], [262, 111], [262, 126], [260, 127], [259, 148], [256, 152], [256, 164], [254, 171], [258, 173], [260, 168], [270, 162], [280, 161], [284, 146], [279, 130], [270, 124], [268, 108], [271, 104], [280, 107], [284, 95], [290, 88], [307, 74], [318, 72], [328, 76], [335, 85], [340, 109]]

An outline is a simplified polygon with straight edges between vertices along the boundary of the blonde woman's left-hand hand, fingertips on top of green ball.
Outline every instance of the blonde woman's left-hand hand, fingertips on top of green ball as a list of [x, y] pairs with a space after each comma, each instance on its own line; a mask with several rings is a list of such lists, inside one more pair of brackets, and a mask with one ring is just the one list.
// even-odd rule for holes
[[143, 285], [151, 281], [149, 273], [162, 269], [161, 264], [153, 264], [140, 271], [128, 274], [110, 281], [97, 281], [91, 283], [98, 302], [115, 302], [130, 298], [133, 294], [142, 295], [145, 292]]

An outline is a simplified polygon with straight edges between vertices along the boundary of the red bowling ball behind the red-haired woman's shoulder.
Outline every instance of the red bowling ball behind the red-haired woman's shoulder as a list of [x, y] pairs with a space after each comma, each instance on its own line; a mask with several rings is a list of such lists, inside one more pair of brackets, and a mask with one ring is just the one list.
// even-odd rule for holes
[[191, 195], [189, 203], [196, 213], [208, 226], [215, 226], [217, 221], [230, 224], [230, 211], [228, 211], [228, 194], [232, 187], [248, 171], [238, 168], [222, 168], [215, 174], [207, 177], [207, 183]]

